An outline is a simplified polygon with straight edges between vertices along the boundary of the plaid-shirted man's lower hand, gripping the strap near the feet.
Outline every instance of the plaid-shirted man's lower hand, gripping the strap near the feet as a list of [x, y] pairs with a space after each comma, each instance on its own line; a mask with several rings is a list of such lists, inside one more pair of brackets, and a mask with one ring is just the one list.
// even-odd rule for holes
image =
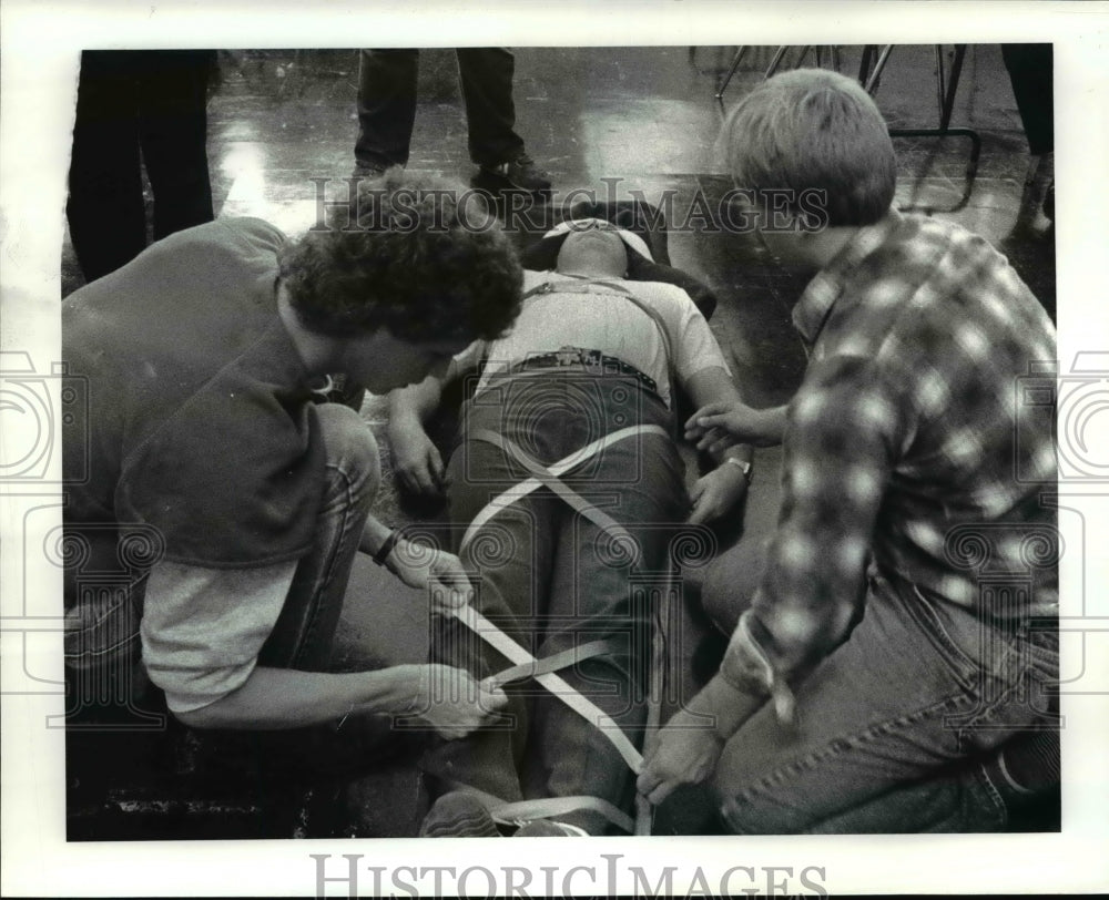
[[682, 709], [648, 738], [635, 787], [652, 804], [661, 804], [682, 785], [696, 785], [712, 775], [723, 749], [723, 738], [711, 722]]

